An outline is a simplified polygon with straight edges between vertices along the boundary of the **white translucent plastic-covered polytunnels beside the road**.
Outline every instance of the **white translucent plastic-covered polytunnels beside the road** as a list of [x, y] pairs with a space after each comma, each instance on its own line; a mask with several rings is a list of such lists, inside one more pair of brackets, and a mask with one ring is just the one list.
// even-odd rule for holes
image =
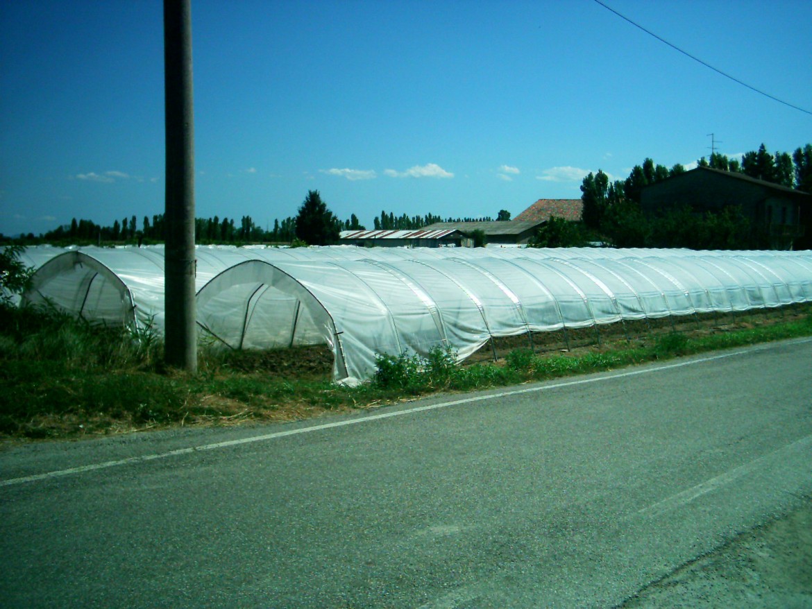
[[[327, 344], [358, 382], [378, 354], [812, 300], [810, 252], [602, 248], [197, 248], [197, 321], [230, 348]], [[43, 262], [29, 303], [163, 329], [163, 250], [80, 248]]]

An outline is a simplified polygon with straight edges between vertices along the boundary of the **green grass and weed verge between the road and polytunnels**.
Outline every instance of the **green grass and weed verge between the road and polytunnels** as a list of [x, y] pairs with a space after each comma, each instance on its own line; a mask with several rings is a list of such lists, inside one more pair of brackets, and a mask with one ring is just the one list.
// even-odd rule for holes
[[148, 332], [91, 327], [58, 313], [0, 311], [0, 438], [80, 438], [172, 425], [292, 421], [370, 408], [438, 391], [473, 391], [621, 368], [677, 356], [812, 335], [812, 309], [750, 314], [735, 323], [684, 324], [630, 339], [602, 330], [600, 343], [566, 351], [512, 348], [498, 362], [456, 365], [455, 355], [380, 356], [371, 382], [330, 382], [319, 349], [214, 352], [198, 374], [162, 365]]

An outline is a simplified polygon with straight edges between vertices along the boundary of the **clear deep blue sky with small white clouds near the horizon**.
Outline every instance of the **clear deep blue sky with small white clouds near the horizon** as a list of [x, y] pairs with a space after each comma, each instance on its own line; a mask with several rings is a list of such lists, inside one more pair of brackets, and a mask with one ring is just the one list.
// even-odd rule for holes
[[[812, 110], [812, 2], [606, 0]], [[318, 190], [371, 228], [514, 216], [718, 149], [792, 152], [812, 115], [594, 0], [192, 0], [197, 216], [262, 227]], [[0, 232], [164, 209], [162, 2], [0, 2]]]

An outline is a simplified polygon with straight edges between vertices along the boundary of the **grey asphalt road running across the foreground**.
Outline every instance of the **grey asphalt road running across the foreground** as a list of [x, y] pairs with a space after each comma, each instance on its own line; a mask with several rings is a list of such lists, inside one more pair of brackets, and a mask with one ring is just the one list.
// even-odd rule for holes
[[2, 607], [615, 607], [812, 496], [812, 342], [0, 451]]

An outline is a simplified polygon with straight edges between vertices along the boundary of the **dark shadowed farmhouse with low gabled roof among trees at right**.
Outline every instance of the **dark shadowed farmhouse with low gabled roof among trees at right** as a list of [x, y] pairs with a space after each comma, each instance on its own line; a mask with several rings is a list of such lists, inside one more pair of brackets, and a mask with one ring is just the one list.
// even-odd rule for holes
[[695, 211], [741, 208], [771, 248], [810, 247], [812, 195], [732, 171], [697, 167], [642, 189], [641, 208], [650, 216], [689, 205]]

